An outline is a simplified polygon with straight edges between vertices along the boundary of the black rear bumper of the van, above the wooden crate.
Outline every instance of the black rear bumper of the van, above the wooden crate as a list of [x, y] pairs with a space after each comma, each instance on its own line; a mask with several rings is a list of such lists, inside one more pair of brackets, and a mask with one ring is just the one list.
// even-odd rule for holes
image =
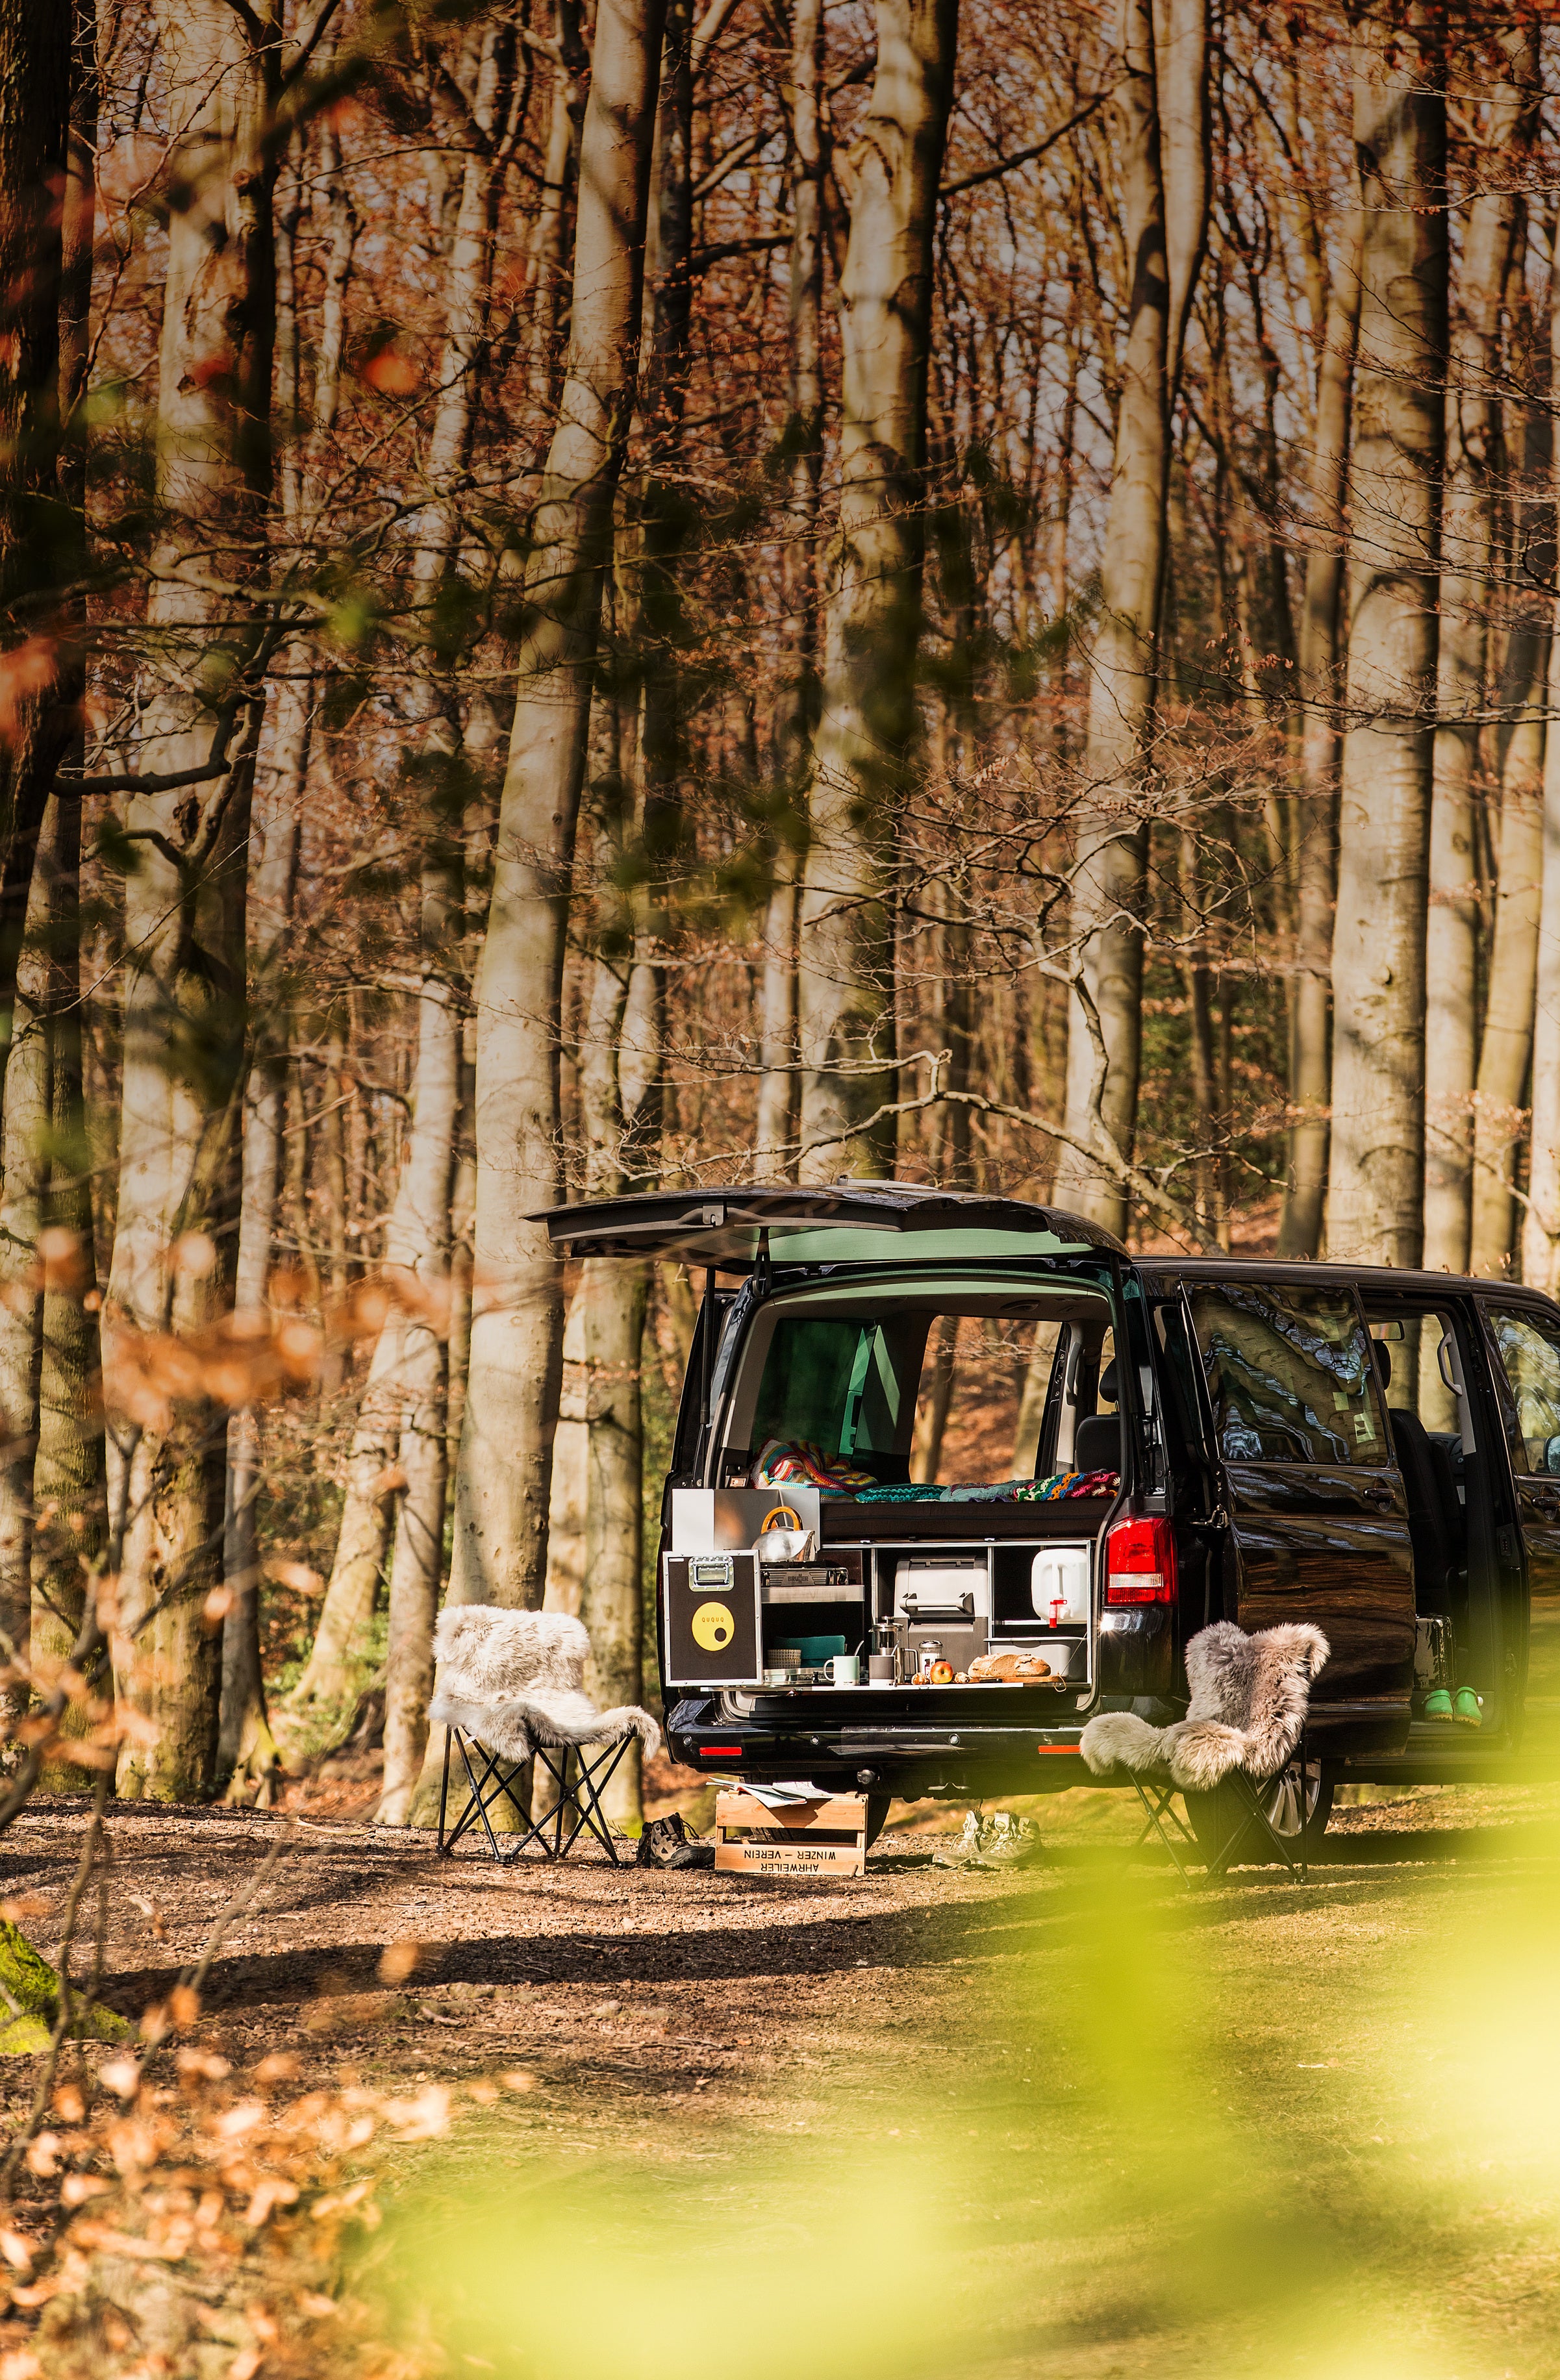
[[726, 1716], [712, 1697], [686, 1697], [667, 1714], [667, 1749], [703, 1775], [757, 1783], [810, 1780], [831, 1790], [924, 1795], [1065, 1792], [1098, 1783], [1079, 1754], [1081, 1723], [981, 1728], [924, 1723], [776, 1726], [767, 1716]]

